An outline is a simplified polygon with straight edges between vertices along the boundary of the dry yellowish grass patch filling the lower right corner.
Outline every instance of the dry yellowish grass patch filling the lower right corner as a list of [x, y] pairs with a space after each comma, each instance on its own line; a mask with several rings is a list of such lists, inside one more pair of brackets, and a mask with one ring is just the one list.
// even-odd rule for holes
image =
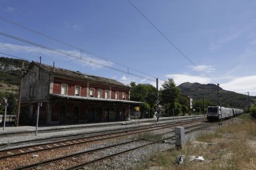
[[[248, 115], [240, 118], [216, 131], [199, 132], [181, 150], [156, 152], [135, 169], [256, 169], [256, 121]], [[176, 163], [178, 155], [185, 155], [181, 165]], [[205, 160], [189, 161], [190, 156]]]

